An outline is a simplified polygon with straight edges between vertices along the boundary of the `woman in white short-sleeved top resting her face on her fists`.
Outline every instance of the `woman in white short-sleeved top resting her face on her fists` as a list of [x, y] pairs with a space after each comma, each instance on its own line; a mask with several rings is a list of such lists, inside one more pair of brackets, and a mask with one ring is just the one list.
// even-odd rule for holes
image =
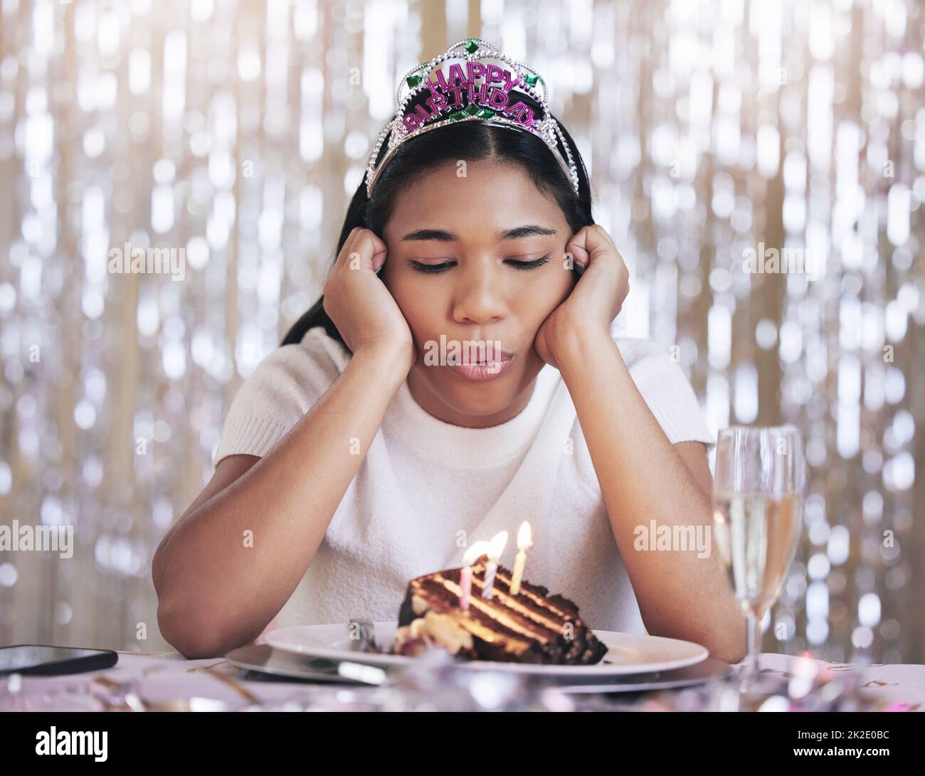
[[[628, 273], [555, 120], [577, 192], [548, 142], [482, 120], [417, 134], [361, 183], [322, 298], [244, 381], [215, 474], [157, 549], [158, 622], [184, 655], [394, 621], [410, 579], [529, 520], [525, 578], [591, 627], [742, 659], [716, 553], [640, 543], [653, 521], [711, 524], [714, 440], [668, 347], [611, 337]], [[497, 346], [483, 363], [441, 344], [475, 341]]]

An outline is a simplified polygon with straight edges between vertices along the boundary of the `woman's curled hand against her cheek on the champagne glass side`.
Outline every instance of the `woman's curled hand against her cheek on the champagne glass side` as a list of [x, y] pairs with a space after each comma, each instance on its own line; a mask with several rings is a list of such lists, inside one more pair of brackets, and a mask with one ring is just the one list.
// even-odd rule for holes
[[536, 332], [536, 352], [559, 369], [561, 355], [582, 337], [611, 339], [611, 323], [629, 293], [629, 270], [611, 236], [598, 224], [575, 232], [565, 246], [585, 274]]

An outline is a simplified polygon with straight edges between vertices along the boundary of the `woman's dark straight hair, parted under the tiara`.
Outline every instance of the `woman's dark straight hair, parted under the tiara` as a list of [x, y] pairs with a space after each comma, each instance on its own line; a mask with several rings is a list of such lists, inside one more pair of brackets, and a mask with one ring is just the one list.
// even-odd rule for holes
[[[531, 104], [528, 97], [518, 94], [518, 99], [524, 99], [527, 105]], [[539, 110], [536, 115], [540, 116]], [[582, 227], [594, 223], [591, 216], [591, 190], [587, 179], [585, 161], [574, 144], [568, 130], [561, 125], [562, 135], [569, 142], [575, 165], [578, 167], [578, 193], [556, 157], [549, 150], [545, 142], [530, 132], [512, 131], [504, 127], [496, 127], [483, 121], [460, 121], [439, 129], [423, 132], [402, 143], [395, 155], [389, 160], [376, 181], [372, 198], [366, 196], [365, 177], [360, 181], [356, 193], [353, 194], [344, 225], [340, 229], [337, 250], [328, 269], [330, 272], [337, 262], [337, 257], [343, 248], [344, 242], [355, 227], [367, 228], [376, 237], [385, 241], [384, 229], [391, 217], [395, 198], [405, 186], [413, 182], [425, 172], [447, 162], [457, 162], [464, 159], [475, 162], [481, 159], [496, 160], [499, 164], [520, 166], [533, 179], [536, 188], [543, 193], [551, 195], [565, 216], [569, 227], [574, 234]], [[384, 142], [379, 152], [379, 159], [385, 155], [388, 143]], [[560, 152], [563, 159], [568, 159], [564, 150]], [[314, 326], [324, 326], [329, 337], [337, 339], [347, 351], [347, 344], [340, 336], [338, 327], [327, 316], [324, 308], [325, 298], [322, 296], [302, 315], [289, 330], [283, 339], [283, 345], [298, 344], [302, 341], [305, 332]]]

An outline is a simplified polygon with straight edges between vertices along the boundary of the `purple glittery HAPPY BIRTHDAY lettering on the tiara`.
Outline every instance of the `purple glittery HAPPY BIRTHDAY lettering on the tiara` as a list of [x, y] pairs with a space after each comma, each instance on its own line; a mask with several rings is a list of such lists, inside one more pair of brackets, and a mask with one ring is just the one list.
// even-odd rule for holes
[[[483, 77], [485, 80], [482, 83], [475, 83]], [[503, 82], [500, 87], [492, 86], [499, 81]], [[511, 117], [525, 129], [531, 129], [536, 120], [533, 109], [523, 101], [511, 104], [508, 93], [523, 82], [519, 76], [514, 77], [510, 70], [499, 68], [497, 65], [483, 65], [480, 62], [466, 63], [465, 73], [462, 72], [461, 65], [451, 65], [449, 76], [445, 76], [443, 71], [438, 69], [436, 83], [430, 79], [424, 81], [430, 90], [430, 96], [425, 100], [426, 107], [417, 105], [411, 113], [406, 113], [401, 121], [405, 127], [413, 131], [424, 125], [427, 120], [440, 116], [451, 108], [465, 107], [462, 104], [462, 91], [465, 90], [468, 105], [483, 105]], [[452, 98], [453, 102], [448, 102], [448, 97]], [[430, 109], [429, 113], [427, 108]]]

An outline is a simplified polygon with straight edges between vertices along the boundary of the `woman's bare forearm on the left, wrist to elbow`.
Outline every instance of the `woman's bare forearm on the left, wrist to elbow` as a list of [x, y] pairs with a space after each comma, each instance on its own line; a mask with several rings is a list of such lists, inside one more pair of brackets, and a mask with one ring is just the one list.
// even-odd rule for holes
[[168, 641], [204, 657], [264, 630], [312, 562], [401, 372], [388, 351], [359, 351], [272, 452], [181, 518], [157, 552]]

